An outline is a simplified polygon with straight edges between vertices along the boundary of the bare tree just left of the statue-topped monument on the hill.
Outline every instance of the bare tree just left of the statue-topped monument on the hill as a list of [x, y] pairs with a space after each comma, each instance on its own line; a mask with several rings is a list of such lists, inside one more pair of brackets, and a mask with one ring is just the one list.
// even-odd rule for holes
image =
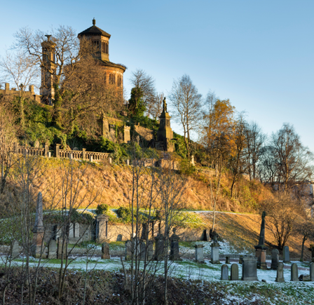
[[[132, 72], [130, 77], [130, 83], [133, 87], [140, 88], [143, 93], [144, 106], [146, 107], [146, 115], [153, 116], [158, 100], [156, 99], [155, 80], [153, 76], [147, 74], [143, 69], [137, 69]], [[154, 117], [154, 116], [153, 116]]]

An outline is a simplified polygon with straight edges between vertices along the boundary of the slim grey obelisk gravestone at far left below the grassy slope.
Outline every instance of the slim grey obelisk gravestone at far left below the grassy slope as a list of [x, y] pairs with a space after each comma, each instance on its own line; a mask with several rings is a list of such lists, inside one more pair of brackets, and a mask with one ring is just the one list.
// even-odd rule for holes
[[43, 196], [41, 195], [41, 192], [39, 191], [39, 194], [37, 196], [37, 205], [36, 205], [36, 217], [35, 217], [35, 224], [33, 229], [33, 241], [32, 241], [32, 247], [31, 252], [32, 256], [39, 258], [43, 257], [44, 252], [44, 245], [43, 245]]

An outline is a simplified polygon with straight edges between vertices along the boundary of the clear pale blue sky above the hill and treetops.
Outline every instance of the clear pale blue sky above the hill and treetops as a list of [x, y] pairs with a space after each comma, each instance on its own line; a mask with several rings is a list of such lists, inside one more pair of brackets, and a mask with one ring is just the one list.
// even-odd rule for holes
[[111, 62], [128, 67], [128, 91], [136, 69], [165, 95], [188, 74], [199, 93], [229, 99], [268, 135], [292, 123], [314, 151], [313, 0], [17, 0], [0, 10], [0, 56], [21, 27], [82, 32], [95, 18], [111, 34]]

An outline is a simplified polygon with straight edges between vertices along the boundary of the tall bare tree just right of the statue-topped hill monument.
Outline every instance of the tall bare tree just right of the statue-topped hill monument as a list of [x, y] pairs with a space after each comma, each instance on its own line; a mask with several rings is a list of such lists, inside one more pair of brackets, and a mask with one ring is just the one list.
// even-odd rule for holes
[[173, 81], [170, 91], [170, 101], [175, 121], [181, 123], [184, 130], [184, 142], [188, 158], [191, 157], [191, 132], [200, 126], [200, 117], [203, 107], [202, 95], [192, 83], [190, 76], [184, 74], [181, 78]]

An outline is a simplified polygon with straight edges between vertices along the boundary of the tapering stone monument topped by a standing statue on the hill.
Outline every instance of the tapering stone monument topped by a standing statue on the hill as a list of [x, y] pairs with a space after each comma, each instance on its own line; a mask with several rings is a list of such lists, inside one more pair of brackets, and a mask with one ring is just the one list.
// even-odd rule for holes
[[170, 143], [173, 138], [173, 131], [170, 127], [171, 116], [167, 111], [167, 104], [165, 98], [163, 99], [163, 112], [159, 116], [159, 128], [157, 132], [156, 149], [162, 149], [164, 151], [175, 151], [175, 147]]

